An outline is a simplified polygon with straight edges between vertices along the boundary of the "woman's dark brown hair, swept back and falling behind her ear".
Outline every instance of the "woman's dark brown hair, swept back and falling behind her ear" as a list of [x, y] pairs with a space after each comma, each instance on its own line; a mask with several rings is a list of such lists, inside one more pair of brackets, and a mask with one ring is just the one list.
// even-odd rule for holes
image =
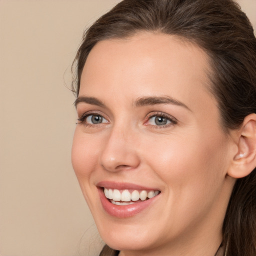
[[[209, 89], [218, 102], [225, 132], [256, 113], [256, 39], [248, 18], [233, 0], [121, 1], [83, 35], [73, 63], [76, 95], [92, 47], [139, 31], [177, 35], [204, 49], [212, 71]], [[226, 256], [256, 255], [256, 169], [234, 185], [223, 222], [223, 247]], [[109, 249], [105, 246], [100, 255], [117, 253]]]

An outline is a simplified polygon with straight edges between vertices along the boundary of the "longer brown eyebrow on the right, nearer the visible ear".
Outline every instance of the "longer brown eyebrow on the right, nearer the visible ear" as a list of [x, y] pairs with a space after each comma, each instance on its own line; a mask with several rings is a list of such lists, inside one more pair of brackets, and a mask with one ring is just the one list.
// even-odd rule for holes
[[135, 100], [134, 104], [135, 104], [135, 106], [146, 106], [146, 105], [156, 105], [156, 104], [173, 104], [173, 105], [182, 106], [182, 107], [190, 110], [190, 108], [188, 106], [186, 106], [184, 103], [182, 103], [181, 101], [179, 101], [173, 97], [170, 97], [170, 96], [140, 97]]

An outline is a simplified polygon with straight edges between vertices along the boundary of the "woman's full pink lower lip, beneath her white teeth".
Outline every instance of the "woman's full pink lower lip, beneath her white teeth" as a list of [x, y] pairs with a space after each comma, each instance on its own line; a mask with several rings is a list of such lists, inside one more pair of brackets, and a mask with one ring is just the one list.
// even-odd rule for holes
[[111, 203], [104, 195], [102, 188], [98, 188], [99, 198], [104, 210], [111, 216], [118, 218], [126, 218], [134, 216], [135, 214], [141, 212], [143, 209], [147, 208], [158, 196], [154, 196], [150, 199], [134, 202], [129, 205], [116, 205]]

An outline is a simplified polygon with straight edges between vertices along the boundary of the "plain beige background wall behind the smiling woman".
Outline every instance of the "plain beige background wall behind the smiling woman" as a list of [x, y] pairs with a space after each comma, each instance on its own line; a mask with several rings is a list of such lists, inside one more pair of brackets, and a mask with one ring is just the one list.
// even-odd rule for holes
[[[70, 163], [70, 65], [84, 27], [118, 0], [0, 0], [0, 255], [96, 255]], [[256, 0], [239, 0], [256, 27]]]

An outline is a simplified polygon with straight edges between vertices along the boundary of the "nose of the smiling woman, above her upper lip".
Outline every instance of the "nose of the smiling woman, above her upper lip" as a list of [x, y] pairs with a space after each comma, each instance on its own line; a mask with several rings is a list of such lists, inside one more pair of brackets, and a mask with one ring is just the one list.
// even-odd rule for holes
[[108, 171], [136, 168], [139, 163], [136, 137], [131, 130], [116, 127], [102, 141], [100, 164]]

